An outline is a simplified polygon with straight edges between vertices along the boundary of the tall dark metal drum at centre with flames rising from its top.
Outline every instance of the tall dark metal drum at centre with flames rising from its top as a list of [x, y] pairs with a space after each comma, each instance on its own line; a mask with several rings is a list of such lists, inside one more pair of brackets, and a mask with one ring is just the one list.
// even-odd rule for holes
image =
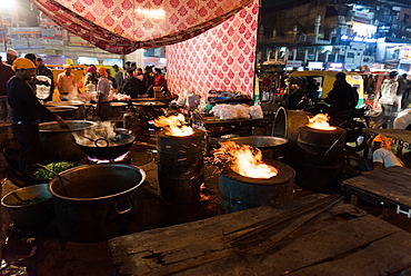
[[160, 197], [166, 201], [190, 204], [200, 199], [200, 186], [204, 183], [204, 139], [206, 132], [199, 129], [186, 137], [158, 132]]

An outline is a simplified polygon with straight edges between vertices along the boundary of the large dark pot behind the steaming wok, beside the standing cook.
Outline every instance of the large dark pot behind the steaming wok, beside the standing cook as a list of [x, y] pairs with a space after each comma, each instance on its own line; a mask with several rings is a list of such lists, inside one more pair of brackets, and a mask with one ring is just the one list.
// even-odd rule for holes
[[60, 128], [56, 121], [42, 122], [40, 128], [40, 162], [79, 161], [83, 151], [74, 142], [72, 132], [81, 134], [96, 125], [93, 121], [68, 120], [69, 129]]

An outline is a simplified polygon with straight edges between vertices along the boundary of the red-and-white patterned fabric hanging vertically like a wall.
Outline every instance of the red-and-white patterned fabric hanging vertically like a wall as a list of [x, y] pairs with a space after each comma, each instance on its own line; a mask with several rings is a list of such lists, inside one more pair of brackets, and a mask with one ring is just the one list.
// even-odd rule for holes
[[168, 46], [167, 77], [170, 91], [190, 88], [202, 97], [209, 90], [254, 92], [254, 62], [259, 0], [190, 40]]

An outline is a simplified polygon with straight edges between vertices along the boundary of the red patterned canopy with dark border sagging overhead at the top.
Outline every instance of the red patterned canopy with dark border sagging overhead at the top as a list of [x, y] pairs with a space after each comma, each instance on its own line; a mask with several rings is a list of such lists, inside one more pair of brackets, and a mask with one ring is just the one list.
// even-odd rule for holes
[[31, 0], [68, 31], [113, 53], [193, 38], [252, 0]]

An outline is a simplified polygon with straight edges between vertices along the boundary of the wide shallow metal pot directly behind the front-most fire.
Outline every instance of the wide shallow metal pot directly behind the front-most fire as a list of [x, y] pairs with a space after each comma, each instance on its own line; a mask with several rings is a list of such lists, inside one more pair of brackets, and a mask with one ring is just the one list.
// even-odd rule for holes
[[281, 159], [284, 154], [284, 147], [288, 139], [271, 136], [244, 136], [222, 139], [219, 142], [233, 141], [237, 145], [249, 145], [259, 148], [263, 158]]

